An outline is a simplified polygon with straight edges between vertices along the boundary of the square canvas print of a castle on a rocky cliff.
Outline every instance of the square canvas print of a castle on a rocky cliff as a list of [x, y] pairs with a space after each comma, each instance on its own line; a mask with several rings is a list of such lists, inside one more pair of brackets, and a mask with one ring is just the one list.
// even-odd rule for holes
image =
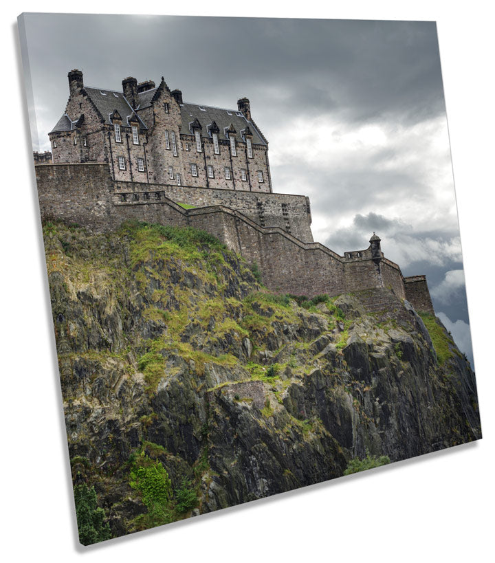
[[434, 22], [19, 32], [82, 544], [481, 438]]

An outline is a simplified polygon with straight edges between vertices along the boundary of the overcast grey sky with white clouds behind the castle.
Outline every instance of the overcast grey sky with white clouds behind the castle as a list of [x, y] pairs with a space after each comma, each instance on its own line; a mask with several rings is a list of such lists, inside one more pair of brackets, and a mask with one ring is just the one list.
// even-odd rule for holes
[[184, 101], [236, 109], [270, 143], [274, 191], [309, 195], [314, 239], [343, 254], [373, 231], [472, 361], [434, 22], [25, 16], [34, 150], [65, 110], [67, 72], [122, 89], [163, 75]]

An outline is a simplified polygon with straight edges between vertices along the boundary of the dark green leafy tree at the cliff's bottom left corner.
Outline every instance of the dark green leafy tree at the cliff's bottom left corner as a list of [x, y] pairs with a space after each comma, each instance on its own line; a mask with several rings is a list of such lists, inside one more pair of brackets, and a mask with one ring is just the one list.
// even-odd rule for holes
[[96, 544], [111, 538], [108, 522], [104, 522], [104, 510], [98, 507], [96, 491], [83, 483], [74, 487], [76, 517], [78, 521], [79, 541], [83, 545]]

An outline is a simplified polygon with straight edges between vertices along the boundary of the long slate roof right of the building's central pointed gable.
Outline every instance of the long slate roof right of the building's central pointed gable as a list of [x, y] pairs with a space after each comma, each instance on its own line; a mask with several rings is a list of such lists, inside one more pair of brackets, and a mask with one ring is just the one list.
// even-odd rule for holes
[[241, 131], [247, 129], [249, 124], [249, 129], [252, 132], [252, 143], [263, 145], [267, 144], [263, 139], [261, 131], [259, 131], [256, 125], [254, 125], [252, 121], [246, 120], [244, 115], [240, 111], [236, 111], [235, 109], [221, 109], [219, 107], [203, 106], [200, 104], [190, 104], [188, 102], [185, 102], [181, 106], [181, 115], [181, 133], [184, 135], [191, 135], [190, 123], [198, 120], [199, 123], [201, 123], [201, 125], [203, 126], [203, 129], [201, 129], [202, 137], [210, 136], [210, 127], [208, 126], [214, 122], [217, 124], [217, 127], [220, 130], [220, 139], [227, 138], [225, 137], [224, 132], [227, 131], [230, 126], [233, 126], [236, 130], [236, 140], [239, 142], [244, 142], [244, 139], [241, 136]]

